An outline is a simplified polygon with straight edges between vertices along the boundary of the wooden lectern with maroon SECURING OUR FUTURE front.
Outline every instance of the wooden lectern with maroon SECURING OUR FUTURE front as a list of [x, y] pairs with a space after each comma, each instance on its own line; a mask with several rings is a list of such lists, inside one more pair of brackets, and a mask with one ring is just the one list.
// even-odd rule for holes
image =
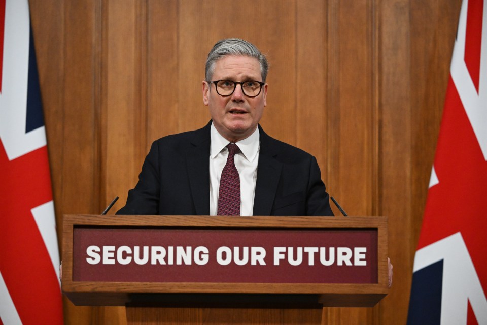
[[65, 215], [62, 291], [127, 323], [322, 323], [388, 293], [386, 217]]

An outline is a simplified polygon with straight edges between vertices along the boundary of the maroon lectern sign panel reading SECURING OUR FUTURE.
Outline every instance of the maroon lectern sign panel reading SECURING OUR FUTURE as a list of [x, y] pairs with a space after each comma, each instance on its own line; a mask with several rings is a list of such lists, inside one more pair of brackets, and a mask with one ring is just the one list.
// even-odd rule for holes
[[73, 280], [377, 283], [374, 230], [75, 228]]

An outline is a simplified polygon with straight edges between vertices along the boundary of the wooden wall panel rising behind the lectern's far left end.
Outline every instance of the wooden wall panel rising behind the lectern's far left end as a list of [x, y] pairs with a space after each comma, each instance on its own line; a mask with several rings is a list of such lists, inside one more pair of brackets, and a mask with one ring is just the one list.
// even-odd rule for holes
[[[62, 199], [58, 204], [62, 214], [99, 213], [99, 116], [93, 84], [96, 3], [69, 2], [64, 9]], [[91, 308], [65, 306], [68, 324], [89, 321]]]

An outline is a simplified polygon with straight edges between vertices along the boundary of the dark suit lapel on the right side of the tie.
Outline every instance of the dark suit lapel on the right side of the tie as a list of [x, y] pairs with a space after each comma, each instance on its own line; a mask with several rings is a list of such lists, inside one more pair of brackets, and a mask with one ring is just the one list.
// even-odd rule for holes
[[283, 164], [275, 159], [279, 145], [259, 125], [260, 152], [253, 215], [270, 215]]

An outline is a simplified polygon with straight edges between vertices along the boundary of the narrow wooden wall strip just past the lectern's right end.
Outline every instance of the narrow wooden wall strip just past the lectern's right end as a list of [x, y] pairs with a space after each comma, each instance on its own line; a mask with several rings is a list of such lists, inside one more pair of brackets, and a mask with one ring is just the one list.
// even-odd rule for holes
[[[381, 60], [381, 214], [389, 218], [389, 255], [395, 264], [394, 289], [384, 302], [384, 323], [405, 319], [412, 272], [411, 252], [404, 249], [410, 234], [411, 195], [411, 105], [409, 57], [410, 26], [407, 0], [382, 2]], [[399, 267], [398, 267], [399, 266]], [[400, 309], [393, 306], [399, 304]]]

